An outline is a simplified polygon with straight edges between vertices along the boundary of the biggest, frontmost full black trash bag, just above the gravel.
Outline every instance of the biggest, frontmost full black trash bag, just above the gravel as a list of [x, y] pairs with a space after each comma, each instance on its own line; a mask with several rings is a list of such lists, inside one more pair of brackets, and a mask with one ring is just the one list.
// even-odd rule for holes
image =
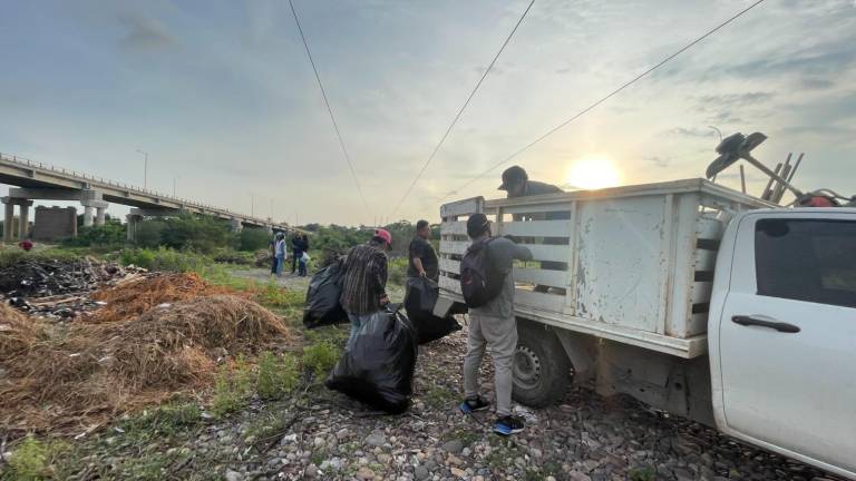
[[416, 332], [397, 308], [360, 326], [327, 386], [391, 414], [407, 411], [416, 367]]

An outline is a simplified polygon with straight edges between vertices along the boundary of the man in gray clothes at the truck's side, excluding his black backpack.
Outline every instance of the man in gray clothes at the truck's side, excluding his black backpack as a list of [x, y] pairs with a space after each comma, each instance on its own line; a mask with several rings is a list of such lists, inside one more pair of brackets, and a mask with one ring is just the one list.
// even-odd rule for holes
[[464, 359], [464, 394], [460, 404], [465, 413], [483, 411], [490, 404], [479, 394], [478, 371], [490, 347], [494, 359], [494, 386], [496, 390], [496, 422], [494, 431], [508, 435], [523, 431], [523, 420], [512, 415], [512, 386], [514, 351], [517, 347], [517, 321], [514, 317], [514, 276], [512, 263], [531, 261], [532, 253], [504, 237], [490, 237], [490, 223], [484, 214], [474, 214], [467, 219], [467, 235], [473, 244], [487, 243], [486, 271], [502, 275], [503, 288], [499, 294], [481, 307], [469, 310], [469, 333], [467, 355]]

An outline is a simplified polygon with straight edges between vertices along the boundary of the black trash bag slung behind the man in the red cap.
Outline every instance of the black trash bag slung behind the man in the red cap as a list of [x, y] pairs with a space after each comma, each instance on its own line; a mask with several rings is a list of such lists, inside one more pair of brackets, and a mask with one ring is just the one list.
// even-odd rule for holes
[[303, 325], [307, 328], [348, 322], [348, 314], [339, 304], [342, 295], [344, 263], [339, 259], [317, 272], [309, 282]]

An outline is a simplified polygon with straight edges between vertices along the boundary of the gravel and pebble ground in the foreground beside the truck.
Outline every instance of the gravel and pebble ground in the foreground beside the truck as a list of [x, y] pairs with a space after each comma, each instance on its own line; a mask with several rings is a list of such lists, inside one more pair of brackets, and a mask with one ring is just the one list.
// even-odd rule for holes
[[[493, 416], [465, 416], [459, 402], [464, 332], [424, 346], [414, 406], [389, 416], [323, 387], [309, 404], [288, 401], [205, 425], [166, 472], [177, 479], [239, 480], [794, 480], [824, 474], [682, 420], [665, 419], [628, 397], [573, 390], [544, 410], [517, 408], [527, 429], [489, 432]], [[483, 374], [489, 380], [489, 370]], [[486, 382], [486, 387], [490, 384]], [[121, 434], [116, 434], [120, 436]], [[100, 462], [115, 462], [101, 460]]]

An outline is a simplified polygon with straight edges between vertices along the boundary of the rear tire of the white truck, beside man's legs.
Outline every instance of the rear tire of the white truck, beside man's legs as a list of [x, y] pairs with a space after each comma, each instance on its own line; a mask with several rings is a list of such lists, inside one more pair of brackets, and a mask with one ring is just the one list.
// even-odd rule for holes
[[571, 381], [572, 366], [556, 334], [542, 324], [519, 320], [517, 336], [514, 400], [544, 408], [562, 399]]

